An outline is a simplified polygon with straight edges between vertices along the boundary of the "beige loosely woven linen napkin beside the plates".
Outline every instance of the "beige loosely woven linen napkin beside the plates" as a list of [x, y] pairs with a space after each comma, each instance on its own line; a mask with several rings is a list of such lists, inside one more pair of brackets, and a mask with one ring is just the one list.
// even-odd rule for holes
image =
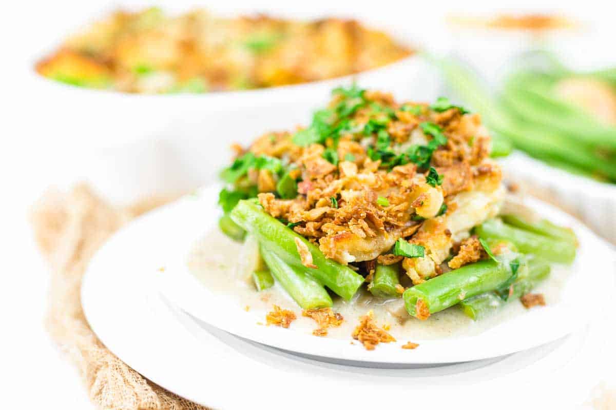
[[95, 251], [127, 221], [164, 202], [149, 199], [113, 208], [80, 185], [68, 194], [47, 192], [33, 208], [34, 235], [52, 268], [47, 329], [77, 366], [87, 394], [100, 409], [206, 409], [153, 384], [115, 357], [81, 308], [81, 278]]

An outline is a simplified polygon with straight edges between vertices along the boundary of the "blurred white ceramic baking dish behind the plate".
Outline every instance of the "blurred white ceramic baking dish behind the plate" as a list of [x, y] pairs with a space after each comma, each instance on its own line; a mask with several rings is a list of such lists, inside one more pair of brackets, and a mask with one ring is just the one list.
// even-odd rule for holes
[[[294, 18], [289, 13], [272, 14]], [[403, 44], [415, 45], [413, 36], [395, 26], [361, 21]], [[52, 49], [39, 52], [33, 64]], [[57, 144], [67, 147], [63, 151], [68, 156], [82, 157], [80, 175], [119, 202], [211, 181], [229, 162], [231, 143], [248, 144], [270, 130], [309, 124], [312, 111], [326, 104], [339, 85], [356, 81], [415, 101], [432, 101], [439, 90], [436, 73], [418, 55], [355, 76], [206, 94], [131, 95], [82, 89], [51, 81], [34, 70], [30, 80], [37, 96], [32, 101], [36, 121], [44, 124], [47, 134], [51, 131]]]

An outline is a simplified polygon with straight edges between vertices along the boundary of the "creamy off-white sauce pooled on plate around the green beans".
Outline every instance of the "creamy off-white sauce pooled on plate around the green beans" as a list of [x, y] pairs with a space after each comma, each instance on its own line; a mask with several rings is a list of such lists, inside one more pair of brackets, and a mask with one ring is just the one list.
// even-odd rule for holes
[[[242, 247], [241, 243], [233, 242], [216, 229], [196, 243], [190, 251], [188, 256], [190, 271], [209, 290], [228, 296], [238, 309], [247, 310], [246, 314], [253, 315], [255, 323], [264, 324], [265, 314], [272, 310], [274, 305], [278, 305], [283, 309], [292, 310], [298, 317], [290, 329], [306, 334], [312, 333], [312, 330], [317, 328], [316, 322], [311, 318], [302, 317], [302, 309], [278, 283], [268, 290], [257, 292], [249, 275], [238, 274], [238, 262], [246, 257], [242, 254]], [[549, 278], [535, 288], [533, 293], [543, 293], [546, 304], [557, 302], [569, 272], [566, 266], [553, 264]], [[334, 312], [341, 313], [344, 321], [341, 326], [330, 328], [327, 337], [348, 341], [352, 341], [351, 333], [359, 323], [359, 317], [369, 310], [374, 312], [378, 325], [389, 325], [389, 333], [400, 342], [474, 336], [526, 311], [521, 302], [511, 301], [490, 317], [473, 321], [466, 317], [459, 307], [453, 306], [434, 313], [428, 320], [422, 321], [410, 317], [404, 311], [401, 298], [383, 301], [372, 298], [370, 293], [362, 290], [351, 302], [346, 302], [333, 294], [332, 299]]]

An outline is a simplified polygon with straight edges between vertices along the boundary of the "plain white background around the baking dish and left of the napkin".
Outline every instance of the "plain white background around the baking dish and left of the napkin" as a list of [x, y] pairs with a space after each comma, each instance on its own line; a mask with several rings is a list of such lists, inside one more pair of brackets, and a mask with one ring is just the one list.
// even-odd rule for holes
[[[161, 4], [161, 2], [156, 2]], [[171, 2], [170, 2], [171, 3]], [[233, 9], [255, 2], [225, 1], [195, 2], [211, 9]], [[485, 12], [495, 9], [492, 1], [310, 1], [294, 4], [291, 1], [262, 1], [265, 8], [301, 7], [307, 12], [318, 10], [323, 15], [344, 15], [344, 10], [361, 7], [365, 12], [381, 18], [391, 18], [396, 24], [407, 25], [416, 31], [418, 41], [434, 49], [447, 47], [442, 35], [442, 16], [448, 11]], [[539, 5], [537, 5], [540, 3]], [[608, 2], [508, 1], [500, 2], [505, 10], [564, 10], [582, 18], [606, 34], [588, 44], [580, 55], [589, 60], [607, 60], [616, 63], [614, 36], [614, 7], [600, 6]], [[47, 270], [31, 240], [27, 221], [30, 204], [47, 186], [66, 186], [83, 172], [68, 160], [71, 148], [57, 143], [62, 130], [48, 129], [38, 121], [37, 112], [31, 111], [36, 100], [36, 88], [28, 82], [28, 70], [38, 50], [60, 39], [71, 28], [89, 20], [88, 16], [100, 10], [113, 9], [123, 2], [104, 1], [12, 1], [4, 4], [2, 14], [0, 66], [2, 114], [2, 147], [0, 149], [0, 181], [2, 182], [2, 238], [0, 256], [2, 286], [0, 307], [2, 337], [0, 339], [0, 376], [2, 400], [5, 408], [89, 408], [86, 393], [79, 384], [75, 370], [66, 363], [61, 353], [49, 341], [43, 328], [46, 307]], [[268, 7], [269, 6], [269, 7]], [[57, 101], [63, 104], [63, 101]], [[70, 110], [70, 106], [67, 106]], [[113, 120], [113, 119], [107, 119]], [[78, 136], [87, 146], [95, 141], [87, 139], [87, 130]], [[73, 136], [73, 138], [76, 138]], [[65, 139], [64, 139], [65, 140]], [[614, 326], [613, 322], [609, 325]], [[593, 377], [592, 374], [580, 377]], [[14, 406], [6, 403], [15, 398]]]

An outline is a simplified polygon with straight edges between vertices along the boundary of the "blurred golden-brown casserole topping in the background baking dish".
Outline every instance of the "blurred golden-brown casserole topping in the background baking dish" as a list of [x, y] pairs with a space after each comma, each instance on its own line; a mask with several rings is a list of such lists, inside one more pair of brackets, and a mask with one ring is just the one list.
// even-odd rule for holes
[[204, 92], [347, 76], [412, 53], [357, 20], [229, 18], [205, 9], [171, 15], [152, 7], [118, 10], [79, 30], [39, 61], [36, 71], [122, 92]]

